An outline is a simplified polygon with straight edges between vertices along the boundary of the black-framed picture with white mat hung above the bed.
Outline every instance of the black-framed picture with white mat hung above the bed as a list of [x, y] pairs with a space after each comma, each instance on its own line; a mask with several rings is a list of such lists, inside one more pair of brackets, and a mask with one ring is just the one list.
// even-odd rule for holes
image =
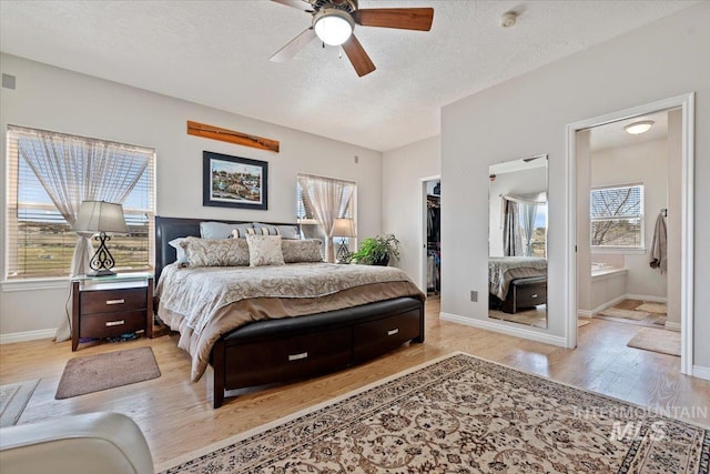
[[202, 205], [268, 209], [268, 163], [204, 151]]

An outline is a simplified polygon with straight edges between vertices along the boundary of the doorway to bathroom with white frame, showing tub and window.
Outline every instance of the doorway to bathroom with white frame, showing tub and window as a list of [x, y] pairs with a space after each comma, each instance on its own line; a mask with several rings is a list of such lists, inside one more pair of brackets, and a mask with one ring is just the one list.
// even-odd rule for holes
[[692, 373], [693, 101], [687, 94], [568, 125], [570, 346], [595, 317], [623, 322], [637, 327], [627, 334], [639, 332], [625, 345], [669, 336], [681, 372]]

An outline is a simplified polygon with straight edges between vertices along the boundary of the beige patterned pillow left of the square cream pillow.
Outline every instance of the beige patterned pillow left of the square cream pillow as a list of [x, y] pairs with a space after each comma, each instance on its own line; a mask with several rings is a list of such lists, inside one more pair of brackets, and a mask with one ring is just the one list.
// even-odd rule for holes
[[248, 244], [243, 239], [185, 238], [180, 245], [185, 250], [190, 266], [246, 266]]

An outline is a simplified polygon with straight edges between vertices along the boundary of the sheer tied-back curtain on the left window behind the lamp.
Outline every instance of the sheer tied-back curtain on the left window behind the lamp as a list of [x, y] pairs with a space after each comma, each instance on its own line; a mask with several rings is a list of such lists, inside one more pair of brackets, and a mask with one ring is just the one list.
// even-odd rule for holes
[[[40, 130], [17, 129], [20, 157], [34, 172], [57, 210], [73, 225], [82, 201], [122, 204], [145, 171], [145, 149]], [[87, 273], [91, 234], [79, 234], [71, 274]], [[67, 314], [68, 316], [68, 314]], [[57, 341], [71, 336], [63, 317]]]

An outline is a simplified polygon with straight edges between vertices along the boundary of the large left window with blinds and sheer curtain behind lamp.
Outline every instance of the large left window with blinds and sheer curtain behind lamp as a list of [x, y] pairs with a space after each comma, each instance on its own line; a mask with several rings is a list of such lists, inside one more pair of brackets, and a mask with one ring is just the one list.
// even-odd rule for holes
[[152, 265], [154, 150], [12, 125], [7, 150], [7, 279], [68, 276], [78, 236], [64, 215], [89, 199], [123, 204], [114, 269]]

